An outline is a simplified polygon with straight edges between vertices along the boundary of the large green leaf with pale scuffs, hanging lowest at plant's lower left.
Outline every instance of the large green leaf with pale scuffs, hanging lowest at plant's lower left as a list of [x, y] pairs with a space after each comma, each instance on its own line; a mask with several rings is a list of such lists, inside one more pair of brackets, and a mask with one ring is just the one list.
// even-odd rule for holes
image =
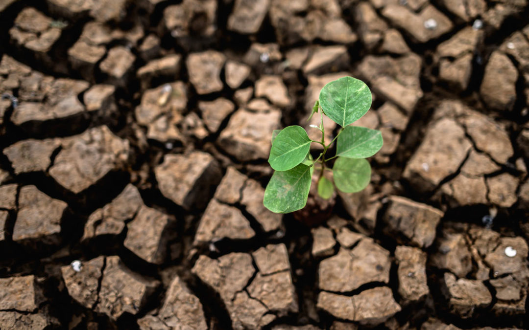
[[294, 212], [305, 207], [311, 188], [311, 167], [299, 164], [288, 171], [276, 171], [266, 186], [265, 207], [276, 213]]

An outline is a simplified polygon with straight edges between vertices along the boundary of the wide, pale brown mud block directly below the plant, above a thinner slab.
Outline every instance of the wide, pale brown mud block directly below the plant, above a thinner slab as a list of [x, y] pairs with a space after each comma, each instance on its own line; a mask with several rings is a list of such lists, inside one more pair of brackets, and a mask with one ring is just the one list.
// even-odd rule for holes
[[341, 248], [336, 256], [324, 259], [318, 269], [318, 287], [348, 292], [370, 282], [389, 281], [389, 251], [372, 239], [362, 239], [352, 250]]

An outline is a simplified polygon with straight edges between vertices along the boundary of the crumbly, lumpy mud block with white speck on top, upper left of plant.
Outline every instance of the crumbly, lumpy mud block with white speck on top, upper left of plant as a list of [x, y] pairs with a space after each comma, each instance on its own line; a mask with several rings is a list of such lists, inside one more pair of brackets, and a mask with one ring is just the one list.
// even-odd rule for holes
[[176, 81], [145, 91], [134, 114], [138, 124], [147, 126], [148, 138], [162, 143], [183, 143], [184, 135], [177, 125], [184, 120], [183, 111], [186, 106], [185, 84]]

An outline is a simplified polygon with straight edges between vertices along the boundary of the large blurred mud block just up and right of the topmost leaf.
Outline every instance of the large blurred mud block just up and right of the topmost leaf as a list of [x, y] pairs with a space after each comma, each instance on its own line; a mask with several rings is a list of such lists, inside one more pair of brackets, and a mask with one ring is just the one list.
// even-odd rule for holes
[[375, 93], [410, 113], [423, 96], [419, 81], [421, 62], [421, 58], [413, 53], [397, 59], [369, 55], [362, 60], [358, 70]]

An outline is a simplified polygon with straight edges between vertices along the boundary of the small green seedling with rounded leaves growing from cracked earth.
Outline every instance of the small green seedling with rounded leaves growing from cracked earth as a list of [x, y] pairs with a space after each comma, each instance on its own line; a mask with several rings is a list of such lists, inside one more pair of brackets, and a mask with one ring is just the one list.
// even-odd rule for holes
[[[345, 193], [363, 190], [371, 179], [371, 166], [366, 158], [382, 148], [382, 134], [379, 130], [349, 125], [365, 115], [370, 107], [371, 91], [367, 85], [361, 80], [343, 77], [322, 88], [312, 109], [311, 117], [318, 112], [321, 117], [320, 126], [311, 125], [321, 131], [321, 141], [309, 138], [300, 126], [274, 130], [268, 163], [275, 172], [266, 187], [263, 200], [266, 208], [276, 213], [303, 209], [316, 166], [320, 170], [317, 191], [324, 199], [332, 196], [334, 186]], [[325, 144], [324, 115], [341, 126], [329, 144]], [[336, 154], [327, 158], [326, 153], [335, 141]], [[312, 143], [323, 146], [316, 159], [310, 153]], [[333, 167], [326, 167], [326, 162], [334, 158]], [[324, 175], [325, 171], [332, 172], [334, 185]]]

